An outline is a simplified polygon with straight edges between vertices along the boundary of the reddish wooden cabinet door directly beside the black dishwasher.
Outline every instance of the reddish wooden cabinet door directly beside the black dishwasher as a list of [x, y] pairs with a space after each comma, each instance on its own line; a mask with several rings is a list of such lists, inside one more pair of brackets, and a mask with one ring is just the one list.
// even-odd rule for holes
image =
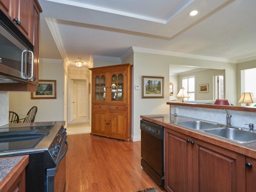
[[185, 134], [164, 129], [164, 189], [168, 192], [191, 192], [192, 145], [187, 139]]

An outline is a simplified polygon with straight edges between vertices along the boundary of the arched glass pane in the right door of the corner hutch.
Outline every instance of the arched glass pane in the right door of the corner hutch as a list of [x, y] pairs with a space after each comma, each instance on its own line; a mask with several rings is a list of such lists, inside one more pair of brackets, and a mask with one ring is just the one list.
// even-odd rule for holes
[[111, 100], [123, 101], [124, 100], [124, 75], [113, 74], [111, 77]]

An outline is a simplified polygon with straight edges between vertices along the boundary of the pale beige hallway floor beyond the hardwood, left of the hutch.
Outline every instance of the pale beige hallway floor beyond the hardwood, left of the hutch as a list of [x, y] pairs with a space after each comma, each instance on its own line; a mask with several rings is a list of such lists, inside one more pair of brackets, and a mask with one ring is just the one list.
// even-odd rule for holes
[[67, 125], [67, 134], [84, 134], [90, 133], [91, 126], [86, 122], [86, 117], [75, 117], [74, 120]]

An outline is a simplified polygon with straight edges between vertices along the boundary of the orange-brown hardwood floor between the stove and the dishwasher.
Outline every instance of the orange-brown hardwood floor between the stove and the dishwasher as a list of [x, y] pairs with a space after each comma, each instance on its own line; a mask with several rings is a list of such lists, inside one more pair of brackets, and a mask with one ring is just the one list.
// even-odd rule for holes
[[68, 135], [67, 141], [67, 192], [137, 192], [157, 186], [141, 170], [140, 141], [90, 134]]

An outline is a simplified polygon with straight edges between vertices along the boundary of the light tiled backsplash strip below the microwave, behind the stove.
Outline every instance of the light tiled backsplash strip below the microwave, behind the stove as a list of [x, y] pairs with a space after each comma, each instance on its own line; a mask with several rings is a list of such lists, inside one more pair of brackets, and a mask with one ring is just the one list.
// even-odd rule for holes
[[9, 123], [9, 92], [0, 91], [0, 126]]

